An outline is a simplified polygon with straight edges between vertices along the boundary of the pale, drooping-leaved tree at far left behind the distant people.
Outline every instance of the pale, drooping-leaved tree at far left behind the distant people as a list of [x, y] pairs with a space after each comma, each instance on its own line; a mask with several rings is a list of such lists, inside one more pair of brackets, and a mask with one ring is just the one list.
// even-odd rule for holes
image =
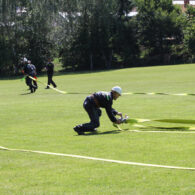
[[53, 1], [0, 0], [0, 71], [17, 73], [21, 57], [26, 56], [37, 66], [44, 66], [52, 55], [49, 34], [56, 4]]

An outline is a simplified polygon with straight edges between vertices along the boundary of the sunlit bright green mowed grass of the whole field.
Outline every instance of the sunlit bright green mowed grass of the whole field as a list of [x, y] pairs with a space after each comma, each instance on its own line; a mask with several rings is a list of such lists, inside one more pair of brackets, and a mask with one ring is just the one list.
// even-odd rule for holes
[[[195, 64], [66, 74], [54, 81], [70, 94], [45, 90], [41, 83], [27, 94], [21, 78], [0, 80], [0, 146], [195, 167], [195, 134], [120, 132], [105, 111], [99, 134], [73, 131], [89, 121], [82, 107], [87, 94], [115, 85], [123, 92], [195, 93]], [[132, 118], [195, 119], [195, 96], [124, 95], [113, 107]], [[0, 150], [0, 194], [189, 195], [195, 194], [195, 171]]]

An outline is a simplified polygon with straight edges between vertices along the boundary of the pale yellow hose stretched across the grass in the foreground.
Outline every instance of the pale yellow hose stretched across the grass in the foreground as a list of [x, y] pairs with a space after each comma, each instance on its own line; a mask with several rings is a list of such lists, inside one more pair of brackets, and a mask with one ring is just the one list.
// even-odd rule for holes
[[38, 153], [38, 154], [54, 155], [54, 156], [66, 156], [66, 157], [72, 157], [72, 158], [96, 160], [96, 161], [118, 163], [118, 164], [126, 164], [126, 165], [136, 165], [136, 166], [144, 166], [144, 167], [159, 167], [159, 168], [166, 168], [166, 169], [180, 169], [180, 170], [192, 170], [192, 171], [195, 171], [195, 168], [191, 168], [191, 167], [156, 165], [156, 164], [146, 164], [146, 163], [138, 163], [138, 162], [111, 160], [111, 159], [105, 159], [105, 158], [95, 158], [95, 157], [89, 157], [89, 156], [80, 156], [80, 155], [74, 155], [74, 154], [63, 154], [63, 153], [43, 152], [43, 151], [34, 151], [34, 150], [24, 150], [24, 149], [11, 149], [11, 148], [5, 148], [3, 146], [0, 146], [0, 149], [7, 150], [7, 151], [31, 152], [31, 153]]

